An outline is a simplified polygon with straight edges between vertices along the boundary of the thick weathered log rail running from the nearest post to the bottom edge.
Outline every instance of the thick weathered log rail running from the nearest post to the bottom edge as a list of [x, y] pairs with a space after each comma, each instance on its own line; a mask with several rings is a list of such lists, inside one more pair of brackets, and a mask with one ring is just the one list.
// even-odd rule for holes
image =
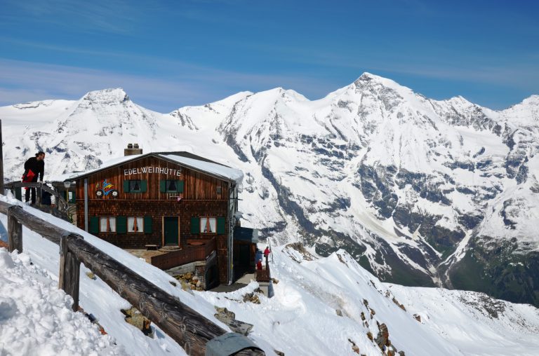
[[204, 355], [206, 342], [225, 330], [131, 269], [80, 239], [67, 240], [74, 252], [107, 285], [178, 342], [188, 355]]

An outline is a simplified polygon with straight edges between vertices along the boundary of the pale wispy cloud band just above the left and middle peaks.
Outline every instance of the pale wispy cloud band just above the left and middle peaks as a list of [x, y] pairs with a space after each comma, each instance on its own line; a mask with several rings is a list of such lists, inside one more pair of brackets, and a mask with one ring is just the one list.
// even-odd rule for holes
[[121, 87], [143, 107], [169, 112], [184, 105], [220, 100], [242, 90], [285, 86], [301, 92], [302, 88], [329, 86], [317, 78], [244, 74], [181, 62], [173, 64], [175, 73], [155, 78], [0, 59], [0, 105], [45, 99], [75, 100], [91, 90]]

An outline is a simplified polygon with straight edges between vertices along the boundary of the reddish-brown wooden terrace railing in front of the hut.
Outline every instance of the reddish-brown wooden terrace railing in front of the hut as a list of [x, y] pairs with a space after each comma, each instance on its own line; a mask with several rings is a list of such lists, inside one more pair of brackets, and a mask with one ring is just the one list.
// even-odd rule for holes
[[211, 240], [205, 240], [204, 245], [187, 245], [187, 247], [178, 251], [152, 256], [152, 265], [166, 270], [186, 263], [204, 261], [215, 249], [217, 249], [216, 241], [215, 238], [212, 238]]

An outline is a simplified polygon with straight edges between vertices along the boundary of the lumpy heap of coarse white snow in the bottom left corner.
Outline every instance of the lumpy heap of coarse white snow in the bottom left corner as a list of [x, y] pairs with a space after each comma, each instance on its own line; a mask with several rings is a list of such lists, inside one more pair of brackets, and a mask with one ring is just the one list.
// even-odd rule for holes
[[0, 248], [1, 355], [127, 355], [27, 254]]

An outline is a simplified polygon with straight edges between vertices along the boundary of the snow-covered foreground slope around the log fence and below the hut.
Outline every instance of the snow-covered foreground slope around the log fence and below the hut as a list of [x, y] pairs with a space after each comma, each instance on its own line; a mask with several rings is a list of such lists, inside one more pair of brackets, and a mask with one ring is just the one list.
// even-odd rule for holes
[[[3, 199], [15, 203], [13, 199]], [[227, 327], [213, 317], [215, 306], [231, 310], [237, 320], [253, 324], [250, 337], [267, 355], [274, 355], [274, 350], [284, 352], [285, 355], [357, 355], [355, 350], [369, 356], [382, 355], [376, 341], [382, 340], [379, 337], [382, 336], [380, 331], [385, 329], [390, 343], [385, 340], [384, 343], [391, 344], [394, 350], [404, 351], [406, 355], [524, 356], [536, 355], [539, 346], [539, 310], [533, 306], [497, 301], [474, 292], [382, 283], [361, 268], [344, 250], [326, 258], [312, 259], [312, 255], [298, 245], [275, 248], [270, 261], [272, 277], [278, 282], [274, 284], [275, 295], [272, 299], [255, 292], [258, 287], [256, 282], [236, 292], [190, 294], [171, 285], [170, 282], [175, 280], [166, 273], [131, 254], [65, 221], [31, 207], [23, 208], [62, 228], [81, 233], [85, 240], [104, 249], [133, 271], [152, 280], [225, 329]], [[6, 217], [0, 215], [0, 221], [5, 226]], [[23, 229], [23, 242], [25, 253], [14, 255], [13, 259], [17, 261], [19, 269], [23, 265], [29, 270], [24, 271], [25, 276], [34, 276], [25, 277], [30, 281], [27, 284], [37, 279], [39, 284], [48, 287], [48, 293], [43, 291], [39, 299], [60, 303], [64, 310], [60, 312], [64, 318], [62, 322], [74, 320], [87, 324], [81, 315], [72, 315], [67, 311], [66, 301], [69, 301], [69, 297], [55, 289], [55, 281], [58, 280], [58, 246], [26, 228]], [[4, 267], [12, 268], [8, 266], [5, 250], [0, 250], [0, 256]], [[34, 263], [33, 267], [29, 266], [30, 261]], [[67, 355], [72, 354], [70, 351], [76, 347], [79, 348], [76, 350], [85, 348], [85, 351], [80, 352], [84, 354], [90, 354], [93, 347], [95, 354], [99, 355], [113, 352], [119, 354], [122, 348], [128, 355], [185, 354], [161, 331], [158, 330], [156, 338], [152, 339], [126, 324], [119, 309], [126, 308], [128, 303], [101, 280], [86, 277], [86, 271], [86, 268], [81, 268], [81, 306], [100, 320], [109, 336], [102, 339], [95, 334], [97, 330], [93, 329], [93, 334], [88, 331], [88, 336], [77, 334], [79, 339], [87, 339], [84, 345], [65, 343], [63, 348], [53, 338], [50, 343], [54, 349], [46, 348], [35, 354], [53, 355], [48, 350], [54, 350], [56, 354], [63, 351]], [[244, 296], [253, 292], [258, 296], [259, 304], [244, 301]], [[1, 301], [5, 299], [4, 295], [0, 296]], [[22, 296], [11, 299], [18, 303], [19, 310], [26, 300]], [[19, 327], [18, 320], [22, 313], [19, 311], [19, 315], [13, 317], [13, 308], [9, 303], [1, 305], [1, 315], [12, 315], [6, 321], [6, 326]], [[41, 310], [39, 315], [42, 319], [51, 320], [55, 317], [48, 315], [51, 309]], [[420, 321], [416, 320], [415, 315], [420, 316]], [[0, 320], [2, 322], [4, 320]], [[48, 327], [43, 324], [39, 332], [46, 334], [49, 332]], [[69, 330], [69, 327], [65, 326], [64, 329]], [[66, 334], [67, 337], [71, 336], [67, 331]], [[13, 336], [19, 345], [35, 345], [34, 341], [25, 338], [26, 334]], [[0, 341], [4, 340], [3, 337], [4, 334], [0, 336]], [[118, 344], [115, 347], [112, 345], [114, 341]], [[387, 346], [385, 348], [387, 350]]]

